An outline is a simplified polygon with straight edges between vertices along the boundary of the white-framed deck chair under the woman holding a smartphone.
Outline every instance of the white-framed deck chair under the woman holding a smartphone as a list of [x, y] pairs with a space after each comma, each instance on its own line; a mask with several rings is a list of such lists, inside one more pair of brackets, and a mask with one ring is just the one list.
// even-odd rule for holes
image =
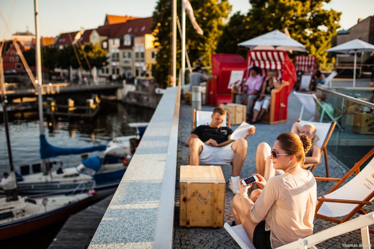
[[[369, 226], [373, 224], [374, 212], [371, 212], [370, 214], [361, 215], [360, 217], [347, 221], [344, 224], [335, 225], [308, 237], [300, 238], [287, 245], [280, 246], [277, 249], [316, 249], [315, 245], [318, 243], [359, 229], [361, 230], [362, 245], [367, 245], [366, 247], [364, 246], [364, 249], [370, 249], [370, 237], [368, 230]], [[241, 224], [231, 227], [229, 223], [226, 222], [224, 224], [224, 228], [231, 235], [231, 237], [233, 237], [240, 248], [256, 249]]]

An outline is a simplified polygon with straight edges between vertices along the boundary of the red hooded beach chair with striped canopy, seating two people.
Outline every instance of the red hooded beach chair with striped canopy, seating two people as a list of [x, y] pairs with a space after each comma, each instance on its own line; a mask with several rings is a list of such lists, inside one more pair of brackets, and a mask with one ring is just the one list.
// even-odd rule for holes
[[[275, 70], [277, 73], [276, 78], [281, 82], [279, 89], [272, 90], [270, 107], [263, 116], [263, 122], [277, 124], [287, 121], [288, 95], [291, 93], [296, 81], [295, 67], [287, 53], [285, 51], [250, 50], [247, 54], [245, 78], [249, 77], [249, 68], [252, 66], [260, 68], [260, 75], [263, 80], [265, 80], [269, 69]], [[235, 96], [236, 94], [232, 92], [231, 101], [233, 103], [235, 103]]]

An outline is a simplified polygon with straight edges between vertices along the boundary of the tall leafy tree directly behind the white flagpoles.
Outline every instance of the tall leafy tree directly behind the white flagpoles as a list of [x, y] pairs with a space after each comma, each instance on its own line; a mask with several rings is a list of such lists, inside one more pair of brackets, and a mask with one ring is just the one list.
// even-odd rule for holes
[[[180, 1], [177, 1], [180, 4]], [[200, 66], [211, 66], [211, 55], [217, 49], [218, 39], [222, 34], [224, 22], [231, 12], [228, 0], [190, 0], [197, 23], [204, 34], [197, 34], [186, 15], [186, 50], [191, 63]], [[181, 20], [181, 6], [177, 6], [178, 17]], [[158, 48], [156, 64], [152, 73], [157, 83], [166, 87], [170, 83], [171, 74], [171, 1], [159, 0], [153, 12], [154, 46]], [[177, 33], [179, 33], [177, 31]], [[177, 70], [180, 68], [181, 40], [177, 35]]]

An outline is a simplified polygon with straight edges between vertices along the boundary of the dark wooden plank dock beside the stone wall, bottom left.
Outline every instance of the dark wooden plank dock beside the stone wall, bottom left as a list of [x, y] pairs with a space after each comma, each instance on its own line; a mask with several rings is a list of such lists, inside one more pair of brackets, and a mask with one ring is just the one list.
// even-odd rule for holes
[[48, 249], [86, 249], [96, 232], [113, 194], [72, 215]]

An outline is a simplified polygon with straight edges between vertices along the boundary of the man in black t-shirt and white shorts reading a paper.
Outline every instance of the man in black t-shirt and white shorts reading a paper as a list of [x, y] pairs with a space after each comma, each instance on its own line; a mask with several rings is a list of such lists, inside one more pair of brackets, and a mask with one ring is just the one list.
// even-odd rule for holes
[[[190, 165], [203, 164], [230, 164], [232, 162], [232, 176], [229, 179], [229, 189], [239, 193], [238, 181], [248, 143], [246, 138], [255, 133], [255, 127], [248, 130], [248, 134], [233, 142], [230, 136], [233, 131], [227, 127], [221, 127], [225, 111], [222, 108], [215, 108], [212, 114], [210, 125], [200, 125], [187, 138], [186, 146], [190, 147]], [[227, 142], [227, 144], [221, 144]], [[219, 145], [219, 146], [217, 146]], [[223, 145], [223, 146], [221, 146]]]

